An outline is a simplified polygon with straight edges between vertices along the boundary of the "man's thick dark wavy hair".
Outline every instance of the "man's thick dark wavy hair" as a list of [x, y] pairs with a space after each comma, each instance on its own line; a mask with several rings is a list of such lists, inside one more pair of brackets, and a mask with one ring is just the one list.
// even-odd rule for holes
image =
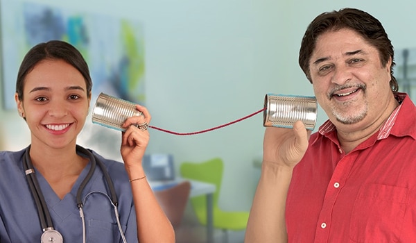
[[381, 65], [384, 67], [387, 65], [389, 58], [392, 58], [392, 65], [390, 66], [390, 88], [392, 92], [397, 92], [399, 85], [395, 76], [393, 76], [395, 51], [387, 33], [385, 33], [379, 20], [363, 10], [354, 8], [343, 8], [339, 11], [324, 12], [309, 24], [299, 51], [299, 65], [306, 74], [306, 78], [312, 83], [309, 60], [315, 50], [318, 37], [328, 31], [339, 31], [343, 28], [356, 31], [364, 40], [375, 47], [379, 51]]

